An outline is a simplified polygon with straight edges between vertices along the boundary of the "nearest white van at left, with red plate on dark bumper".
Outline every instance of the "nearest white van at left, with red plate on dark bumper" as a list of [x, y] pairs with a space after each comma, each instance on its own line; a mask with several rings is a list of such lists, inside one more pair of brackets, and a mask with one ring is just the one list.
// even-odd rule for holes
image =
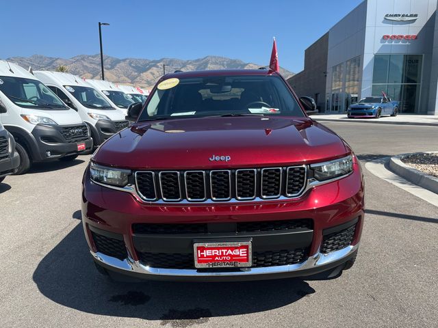
[[86, 124], [21, 66], [0, 60], [0, 122], [16, 141], [25, 173], [34, 161], [72, 161], [92, 148]]

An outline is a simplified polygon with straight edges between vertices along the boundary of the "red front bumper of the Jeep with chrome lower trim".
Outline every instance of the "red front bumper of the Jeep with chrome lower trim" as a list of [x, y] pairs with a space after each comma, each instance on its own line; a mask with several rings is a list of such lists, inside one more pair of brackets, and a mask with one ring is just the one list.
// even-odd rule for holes
[[[146, 279], [168, 280], [242, 280], [273, 279], [313, 275], [338, 267], [355, 256], [363, 226], [363, 178], [359, 163], [350, 176], [322, 184], [294, 200], [263, 200], [244, 203], [214, 204], [144, 204], [123, 191], [108, 189], [90, 180], [88, 169], [83, 179], [82, 222], [94, 260], [102, 267]], [[248, 234], [225, 232], [227, 225], [242, 222], [274, 222], [311, 220], [311, 231], [260, 231]], [[139, 236], [133, 229], [138, 223], [146, 225], [173, 223], [190, 225], [205, 223], [216, 226], [205, 235], [158, 234]], [[222, 225], [222, 226], [220, 226]], [[355, 226], [348, 245], [324, 251], [324, 236]], [[219, 228], [218, 228], [219, 227]], [[222, 230], [225, 228], [224, 230]], [[215, 230], [216, 229], [216, 230]], [[237, 231], [237, 230], [236, 230]], [[109, 256], [99, 251], [95, 234], [118, 238], [125, 256]], [[186, 253], [195, 239], [252, 238], [255, 251], [305, 249], [299, 262], [268, 267], [250, 267], [222, 271], [205, 271], [194, 267], [175, 269], [147, 265], [144, 253]], [[113, 239], [116, 240], [116, 239]], [[146, 254], [147, 255], [147, 254]], [[171, 264], [171, 263], [170, 263]], [[278, 264], [278, 263], [277, 263]]]

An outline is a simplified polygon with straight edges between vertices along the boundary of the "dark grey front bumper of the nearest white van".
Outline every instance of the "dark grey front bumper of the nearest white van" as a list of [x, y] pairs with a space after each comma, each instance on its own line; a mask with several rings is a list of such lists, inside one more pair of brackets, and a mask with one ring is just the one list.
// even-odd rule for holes
[[[36, 125], [31, 135], [34, 145], [31, 147], [33, 150], [33, 159], [35, 161], [46, 161], [50, 159], [60, 159], [61, 157], [80, 154], [86, 150], [90, 150], [93, 145], [93, 140], [90, 134], [84, 135], [63, 135], [63, 129], [65, 128], [86, 128], [85, 124], [78, 124], [77, 126], [46, 126]], [[65, 132], [64, 132], [65, 133]], [[78, 144], [85, 143], [85, 150], [78, 150]]]

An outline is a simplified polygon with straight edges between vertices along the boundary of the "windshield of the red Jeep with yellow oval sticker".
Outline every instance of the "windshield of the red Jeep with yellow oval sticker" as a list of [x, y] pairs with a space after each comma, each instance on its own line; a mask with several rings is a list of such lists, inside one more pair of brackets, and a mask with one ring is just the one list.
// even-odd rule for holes
[[168, 79], [148, 98], [139, 121], [174, 116], [304, 116], [292, 92], [276, 75]]

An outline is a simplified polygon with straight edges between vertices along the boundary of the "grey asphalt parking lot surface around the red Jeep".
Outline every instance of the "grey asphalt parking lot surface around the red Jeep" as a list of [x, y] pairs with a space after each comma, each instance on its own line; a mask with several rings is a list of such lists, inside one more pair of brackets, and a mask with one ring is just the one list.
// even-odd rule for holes
[[[436, 126], [326, 122], [365, 163], [438, 149]], [[365, 169], [355, 266], [326, 281], [115, 283], [83, 237], [90, 156], [0, 184], [0, 327], [436, 327], [438, 210]]]

